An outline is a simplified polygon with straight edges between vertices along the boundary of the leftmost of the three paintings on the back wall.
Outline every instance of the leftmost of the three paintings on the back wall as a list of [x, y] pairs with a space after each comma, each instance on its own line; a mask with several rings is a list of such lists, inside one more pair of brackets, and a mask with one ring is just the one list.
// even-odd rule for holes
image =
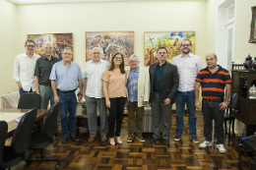
[[[28, 38], [32, 38], [35, 42], [36, 49], [35, 53], [42, 56], [43, 55], [43, 44], [46, 41], [51, 41], [53, 44], [54, 57], [61, 59], [61, 51], [65, 47], [70, 47], [73, 50], [73, 34], [72, 33], [45, 33], [45, 34], [28, 34]], [[72, 60], [74, 60], [74, 55]]]

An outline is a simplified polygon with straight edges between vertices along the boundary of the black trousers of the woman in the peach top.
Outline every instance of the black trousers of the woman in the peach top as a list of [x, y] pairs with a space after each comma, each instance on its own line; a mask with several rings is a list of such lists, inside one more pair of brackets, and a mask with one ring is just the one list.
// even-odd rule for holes
[[[126, 97], [109, 98], [110, 108], [108, 117], [109, 126], [109, 138], [120, 137], [122, 121], [123, 121], [123, 109], [126, 101]], [[115, 133], [114, 126], [116, 124]]]

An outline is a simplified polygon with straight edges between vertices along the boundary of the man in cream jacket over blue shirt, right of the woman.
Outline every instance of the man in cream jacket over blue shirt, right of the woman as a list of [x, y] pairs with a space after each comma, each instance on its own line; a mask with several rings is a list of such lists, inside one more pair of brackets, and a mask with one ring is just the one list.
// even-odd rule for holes
[[[128, 100], [128, 139], [132, 142], [134, 138], [134, 118], [136, 117], [136, 139], [145, 142], [142, 137], [142, 121], [144, 106], [150, 98], [150, 75], [148, 69], [139, 67], [139, 57], [135, 54], [129, 58], [130, 69], [127, 70], [127, 100]], [[136, 114], [135, 114], [136, 112]]]

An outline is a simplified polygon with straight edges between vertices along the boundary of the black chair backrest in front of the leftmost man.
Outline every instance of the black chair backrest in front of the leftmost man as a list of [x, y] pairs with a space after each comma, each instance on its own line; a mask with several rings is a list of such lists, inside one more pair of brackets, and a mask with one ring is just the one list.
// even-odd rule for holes
[[28, 92], [21, 96], [18, 109], [40, 109], [41, 96], [35, 92]]

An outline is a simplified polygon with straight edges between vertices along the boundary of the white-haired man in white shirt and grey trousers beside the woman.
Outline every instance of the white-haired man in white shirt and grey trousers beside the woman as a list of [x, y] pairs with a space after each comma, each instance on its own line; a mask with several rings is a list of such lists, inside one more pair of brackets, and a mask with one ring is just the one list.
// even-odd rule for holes
[[96, 106], [98, 107], [100, 115], [101, 142], [106, 141], [105, 136], [108, 131], [107, 112], [101, 76], [110, 65], [108, 62], [101, 59], [102, 55], [103, 52], [101, 48], [93, 48], [93, 60], [86, 62], [83, 76], [87, 102], [88, 127], [90, 132], [88, 142], [96, 141]]

